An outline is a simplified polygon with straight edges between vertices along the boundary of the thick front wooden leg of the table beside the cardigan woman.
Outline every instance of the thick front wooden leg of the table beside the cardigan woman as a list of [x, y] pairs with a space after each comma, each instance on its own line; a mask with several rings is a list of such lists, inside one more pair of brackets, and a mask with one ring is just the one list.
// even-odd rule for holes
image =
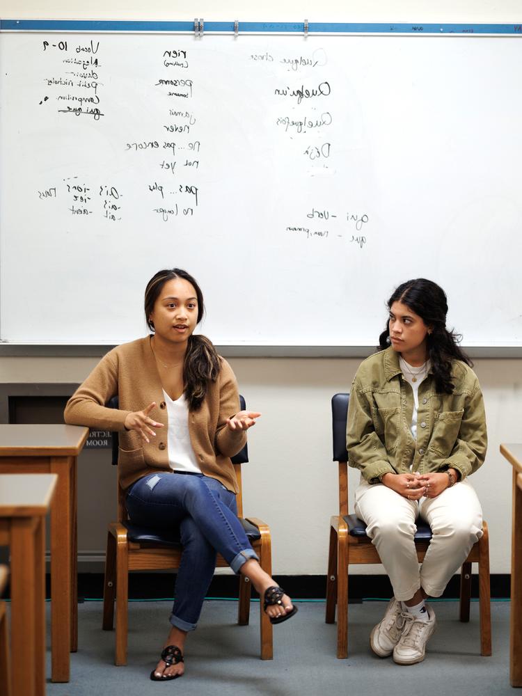
[[51, 457], [51, 473], [58, 474], [51, 507], [51, 642], [52, 681], [69, 681], [71, 647], [70, 457]]

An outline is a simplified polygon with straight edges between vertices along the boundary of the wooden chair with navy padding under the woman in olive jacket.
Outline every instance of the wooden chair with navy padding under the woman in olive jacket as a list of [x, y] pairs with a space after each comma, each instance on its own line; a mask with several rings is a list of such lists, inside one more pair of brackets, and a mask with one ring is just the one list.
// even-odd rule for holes
[[[354, 514], [348, 514], [348, 453], [346, 422], [348, 394], [335, 394], [332, 399], [333, 461], [339, 465], [339, 514], [330, 521], [330, 547], [326, 580], [326, 623], [335, 622], [337, 604], [337, 656], [348, 656], [348, 569], [349, 564], [380, 563], [379, 554], [366, 536], [366, 525]], [[419, 562], [425, 557], [432, 538], [429, 525], [418, 521], [415, 542]], [[480, 654], [491, 655], [491, 606], [489, 588], [489, 537], [487, 523], [462, 564], [460, 583], [460, 620], [469, 621], [471, 564], [478, 563], [480, 601]]]

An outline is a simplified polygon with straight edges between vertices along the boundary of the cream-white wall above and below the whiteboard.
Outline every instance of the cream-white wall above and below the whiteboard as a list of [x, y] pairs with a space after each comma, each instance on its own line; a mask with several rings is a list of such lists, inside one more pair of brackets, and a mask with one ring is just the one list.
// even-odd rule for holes
[[[2, 18], [83, 19], [239, 19], [301, 21], [520, 22], [519, 2], [503, 0], [383, 0], [317, 3], [274, 0], [244, 3], [224, 0], [219, 7], [149, 0], [2, 0]], [[400, 282], [402, 278], [397, 278]], [[472, 290], [470, 289], [470, 295]], [[491, 288], [494, 292], [494, 288]], [[385, 298], [383, 298], [384, 300]], [[451, 300], [451, 298], [450, 298]], [[291, 308], [288, 308], [291, 311]], [[520, 311], [518, 308], [517, 311]], [[484, 317], [487, 321], [488, 317]], [[458, 328], [458, 327], [457, 327]], [[376, 327], [377, 333], [380, 327]], [[326, 572], [329, 517], [335, 514], [337, 470], [331, 461], [330, 399], [347, 391], [358, 360], [325, 358], [233, 358], [242, 393], [262, 411], [249, 434], [251, 464], [245, 466], [245, 512], [265, 519], [273, 534], [274, 572]], [[0, 357], [0, 382], [79, 382], [94, 358]], [[522, 441], [522, 360], [480, 359], [475, 370], [482, 383], [489, 425], [489, 455], [473, 476], [491, 533], [491, 572], [507, 573], [510, 563], [511, 468], [500, 457], [502, 442]], [[357, 480], [351, 472], [351, 491]], [[79, 495], [81, 497], [81, 490]], [[107, 511], [107, 520], [113, 509]], [[300, 530], [296, 532], [296, 530]], [[100, 549], [101, 551], [101, 549]], [[364, 569], [367, 572], [367, 568]]]

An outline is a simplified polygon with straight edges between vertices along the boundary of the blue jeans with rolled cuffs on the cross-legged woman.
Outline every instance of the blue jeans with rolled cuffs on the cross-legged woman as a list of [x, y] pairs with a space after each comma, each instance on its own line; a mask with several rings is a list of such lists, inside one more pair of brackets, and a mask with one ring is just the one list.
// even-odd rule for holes
[[203, 474], [156, 473], [129, 488], [130, 519], [146, 527], [180, 528], [183, 553], [177, 571], [171, 624], [193, 631], [214, 576], [216, 551], [235, 573], [258, 559], [237, 519], [235, 493]]

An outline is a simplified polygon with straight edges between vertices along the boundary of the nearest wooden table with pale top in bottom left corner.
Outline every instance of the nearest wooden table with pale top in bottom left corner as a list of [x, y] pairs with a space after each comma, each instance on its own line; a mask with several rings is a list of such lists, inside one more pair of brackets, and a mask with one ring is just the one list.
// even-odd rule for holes
[[45, 695], [45, 516], [56, 474], [0, 474], [0, 544], [9, 545], [13, 694]]

